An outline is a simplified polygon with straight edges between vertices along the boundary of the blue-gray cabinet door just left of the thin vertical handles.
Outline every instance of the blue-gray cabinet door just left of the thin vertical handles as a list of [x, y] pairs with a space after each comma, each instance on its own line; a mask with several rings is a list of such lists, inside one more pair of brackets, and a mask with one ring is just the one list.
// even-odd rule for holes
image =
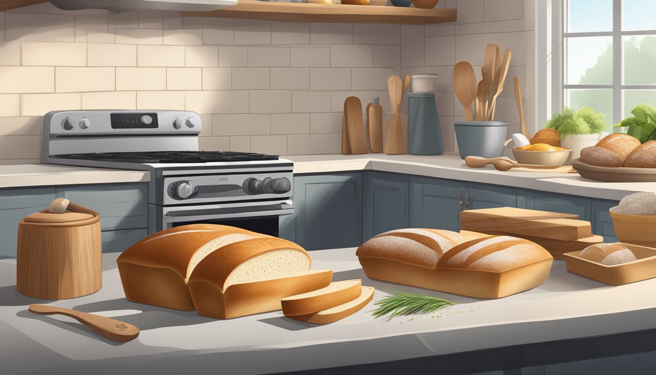
[[410, 176], [410, 227], [460, 231], [462, 181]]

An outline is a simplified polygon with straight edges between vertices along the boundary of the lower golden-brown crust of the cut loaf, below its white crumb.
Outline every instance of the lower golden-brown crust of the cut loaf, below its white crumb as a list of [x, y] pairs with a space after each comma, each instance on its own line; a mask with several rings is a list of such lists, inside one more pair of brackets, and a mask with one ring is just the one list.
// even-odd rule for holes
[[301, 271], [231, 284], [226, 290], [220, 290], [215, 282], [195, 280], [192, 275], [188, 286], [197, 313], [230, 319], [279, 310], [282, 308], [281, 299], [324, 288], [332, 278], [333, 271], [329, 269]]

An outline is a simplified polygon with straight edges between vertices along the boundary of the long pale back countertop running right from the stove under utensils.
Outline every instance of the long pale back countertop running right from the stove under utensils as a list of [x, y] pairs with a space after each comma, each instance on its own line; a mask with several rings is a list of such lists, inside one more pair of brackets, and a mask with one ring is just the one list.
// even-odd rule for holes
[[[656, 192], [656, 183], [611, 183], [584, 179], [578, 173], [554, 173], [548, 169], [512, 168], [497, 171], [492, 165], [470, 168], [456, 152], [439, 156], [418, 155], [292, 155], [294, 173], [335, 173], [340, 171], [375, 170], [475, 181], [534, 190], [558, 192], [590, 198], [621, 200], [634, 192]], [[564, 170], [560, 169], [560, 171]]]

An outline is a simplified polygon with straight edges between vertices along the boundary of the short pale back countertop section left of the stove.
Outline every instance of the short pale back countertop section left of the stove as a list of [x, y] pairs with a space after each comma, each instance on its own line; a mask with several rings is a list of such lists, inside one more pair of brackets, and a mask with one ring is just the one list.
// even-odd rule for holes
[[150, 181], [148, 171], [51, 164], [0, 165], [0, 188]]

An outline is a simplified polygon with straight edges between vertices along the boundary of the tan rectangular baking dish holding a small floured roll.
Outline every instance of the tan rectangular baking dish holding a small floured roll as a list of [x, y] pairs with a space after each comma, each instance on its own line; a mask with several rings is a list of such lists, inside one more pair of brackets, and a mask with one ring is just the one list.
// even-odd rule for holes
[[638, 260], [617, 265], [603, 265], [579, 257], [580, 251], [571, 252], [564, 254], [567, 271], [610, 285], [623, 285], [656, 277], [655, 248], [625, 244], [624, 242], [616, 243], [631, 250]]

